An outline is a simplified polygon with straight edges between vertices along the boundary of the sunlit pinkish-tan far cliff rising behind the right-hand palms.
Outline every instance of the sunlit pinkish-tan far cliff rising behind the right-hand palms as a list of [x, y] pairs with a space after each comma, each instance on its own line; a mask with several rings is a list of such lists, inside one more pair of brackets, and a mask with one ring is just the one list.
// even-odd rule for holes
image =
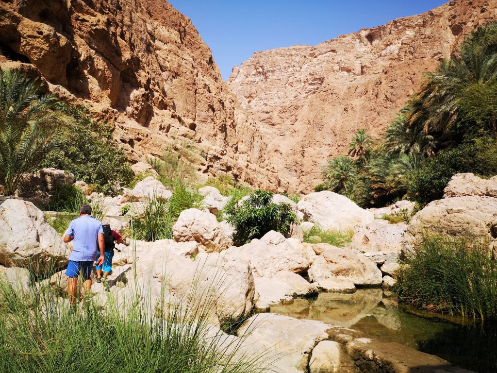
[[379, 136], [423, 73], [496, 18], [495, 0], [450, 1], [317, 46], [256, 52], [233, 69], [228, 87], [264, 123], [281, 186], [309, 191], [357, 129]]

